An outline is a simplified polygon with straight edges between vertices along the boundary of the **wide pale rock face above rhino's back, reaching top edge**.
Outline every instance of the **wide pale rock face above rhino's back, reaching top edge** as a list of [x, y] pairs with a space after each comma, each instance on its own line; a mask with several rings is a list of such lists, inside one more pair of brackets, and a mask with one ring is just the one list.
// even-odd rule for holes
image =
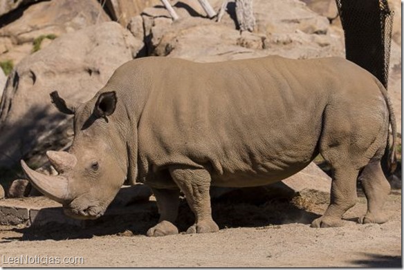
[[[212, 1], [215, 10], [220, 3]], [[330, 28], [328, 19], [297, 0], [285, 0], [282, 4], [254, 1], [256, 26], [253, 33], [240, 33], [236, 29], [234, 1], [229, 1], [228, 11], [220, 23], [203, 19], [201, 10], [196, 8], [176, 5], [181, 19], [175, 22], [169, 19], [167, 10], [147, 8], [142, 14], [143, 28], [140, 29], [140, 19], [135, 17], [130, 24], [131, 31], [144, 30], [151, 55], [202, 62], [264, 55], [313, 58], [343, 56], [344, 53], [343, 41]]]

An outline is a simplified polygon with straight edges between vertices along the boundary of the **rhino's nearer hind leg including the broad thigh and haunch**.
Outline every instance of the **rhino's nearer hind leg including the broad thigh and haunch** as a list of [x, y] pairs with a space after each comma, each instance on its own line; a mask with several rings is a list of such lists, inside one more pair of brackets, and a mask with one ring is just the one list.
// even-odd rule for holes
[[383, 155], [389, 119], [381, 100], [335, 99], [325, 108], [319, 146], [333, 168], [331, 200], [313, 227], [343, 226], [342, 215], [356, 204], [359, 172]]

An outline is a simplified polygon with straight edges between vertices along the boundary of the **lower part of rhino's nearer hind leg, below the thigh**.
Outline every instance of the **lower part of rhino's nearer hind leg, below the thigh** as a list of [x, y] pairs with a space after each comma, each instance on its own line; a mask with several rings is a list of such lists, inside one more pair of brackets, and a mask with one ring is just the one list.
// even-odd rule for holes
[[342, 166], [335, 168], [331, 183], [331, 200], [322, 217], [314, 220], [314, 228], [343, 226], [342, 215], [356, 204], [356, 179], [358, 170]]

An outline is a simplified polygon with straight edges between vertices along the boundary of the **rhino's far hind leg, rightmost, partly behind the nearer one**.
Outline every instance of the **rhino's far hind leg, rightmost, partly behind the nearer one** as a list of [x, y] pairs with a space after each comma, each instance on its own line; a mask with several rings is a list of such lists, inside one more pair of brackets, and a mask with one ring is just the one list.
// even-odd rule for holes
[[367, 213], [359, 218], [360, 223], [384, 223], [387, 215], [383, 213], [383, 205], [390, 193], [390, 184], [383, 174], [380, 160], [369, 162], [359, 176], [363, 191], [367, 198]]

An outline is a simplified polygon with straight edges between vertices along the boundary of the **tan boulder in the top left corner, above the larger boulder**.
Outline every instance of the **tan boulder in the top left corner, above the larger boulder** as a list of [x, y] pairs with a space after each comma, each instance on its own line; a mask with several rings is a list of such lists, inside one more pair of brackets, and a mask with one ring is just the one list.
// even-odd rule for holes
[[59, 37], [104, 21], [111, 19], [97, 0], [40, 1], [0, 28], [0, 61], [12, 60], [17, 64], [33, 50], [46, 45], [34, 48], [34, 41], [38, 44], [46, 37]]

